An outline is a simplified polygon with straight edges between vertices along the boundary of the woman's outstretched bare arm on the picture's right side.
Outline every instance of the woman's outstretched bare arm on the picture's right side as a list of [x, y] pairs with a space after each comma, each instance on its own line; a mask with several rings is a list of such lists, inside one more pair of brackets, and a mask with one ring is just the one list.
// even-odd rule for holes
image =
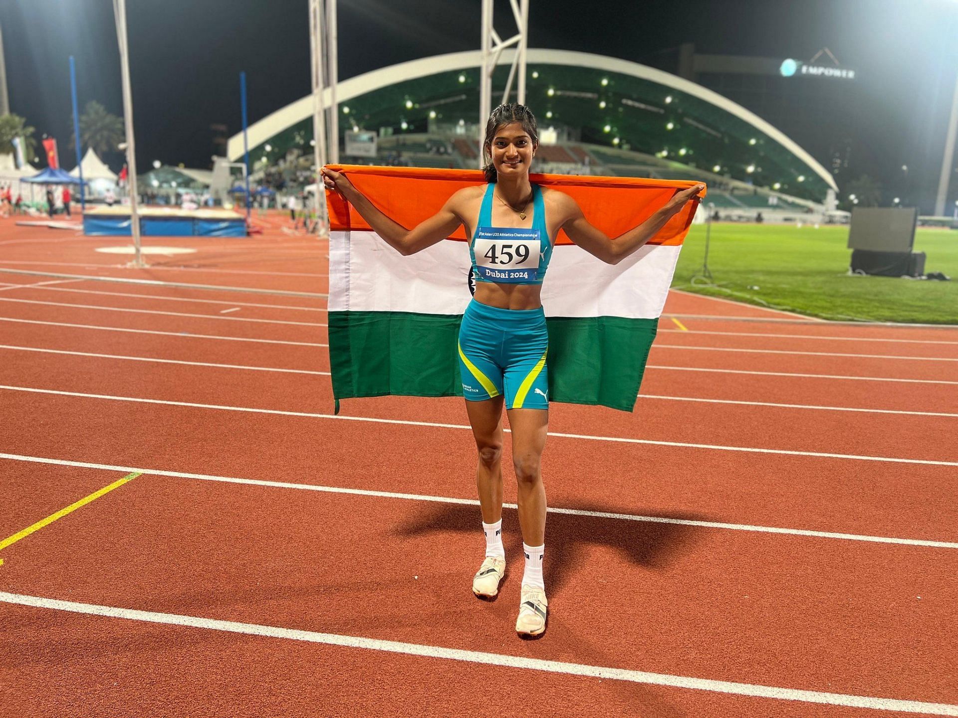
[[638, 227], [630, 229], [615, 239], [605, 236], [604, 232], [589, 224], [576, 200], [564, 194], [562, 196], [566, 199], [562, 199], [561, 202], [563, 215], [567, 218], [562, 223], [562, 229], [572, 241], [589, 254], [595, 255], [607, 264], [618, 264], [655, 236], [655, 233], [665, 227], [666, 222], [672, 219], [686, 202], [695, 198], [698, 192], [704, 189], [705, 185], [694, 185], [688, 190], [676, 192], [665, 207], [652, 214]]

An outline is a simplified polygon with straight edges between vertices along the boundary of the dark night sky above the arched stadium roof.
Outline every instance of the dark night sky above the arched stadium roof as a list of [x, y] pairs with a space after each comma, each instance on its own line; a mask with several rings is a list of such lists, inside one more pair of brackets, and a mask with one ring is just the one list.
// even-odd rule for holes
[[[617, 56], [675, 71], [674, 50], [809, 59], [823, 47], [857, 71], [852, 119], [789, 134], [853, 138], [850, 174], [930, 211], [958, 72], [958, 0], [531, 0], [530, 47]], [[239, 130], [239, 71], [250, 122], [309, 92], [307, 0], [127, 0], [137, 165], [205, 168], [210, 124]], [[401, 10], [400, 10], [401, 9]], [[513, 34], [497, 0], [500, 34]], [[479, 48], [479, 0], [340, 0], [340, 79], [379, 67]], [[57, 137], [63, 164], [72, 133], [68, 58], [80, 106], [122, 115], [110, 0], [0, 0], [11, 111]], [[535, 107], [533, 108], [535, 111]], [[818, 143], [821, 144], [821, 143]], [[829, 158], [815, 157], [828, 167]], [[104, 157], [118, 167], [122, 156]], [[41, 161], [42, 162], [42, 161]], [[901, 165], [909, 166], [907, 178]], [[958, 192], [958, 175], [952, 194]], [[952, 200], [953, 201], [953, 200]]]

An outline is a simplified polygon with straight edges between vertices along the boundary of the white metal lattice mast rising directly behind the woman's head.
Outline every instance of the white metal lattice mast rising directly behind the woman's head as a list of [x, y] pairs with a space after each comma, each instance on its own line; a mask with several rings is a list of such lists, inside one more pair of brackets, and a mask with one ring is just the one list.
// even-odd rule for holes
[[[513, 8], [513, 18], [518, 32], [513, 34], [508, 40], [503, 41], [499, 34], [495, 32], [492, 23], [492, 6], [494, 0], [482, 0], [482, 76], [479, 79], [479, 168], [483, 166], [483, 140], [482, 128], [486, 126], [492, 111], [492, 73], [499, 63], [499, 56], [507, 47], [516, 46], [513, 64], [509, 70], [509, 79], [506, 81], [506, 89], [502, 93], [502, 102], [509, 101], [509, 96], [513, 92], [513, 79], [515, 79], [516, 69], [519, 74], [517, 83], [516, 101], [519, 104], [526, 103], [526, 48], [528, 47], [529, 36], [529, 0], [509, 0]], [[495, 43], [493, 45], [493, 42]]]

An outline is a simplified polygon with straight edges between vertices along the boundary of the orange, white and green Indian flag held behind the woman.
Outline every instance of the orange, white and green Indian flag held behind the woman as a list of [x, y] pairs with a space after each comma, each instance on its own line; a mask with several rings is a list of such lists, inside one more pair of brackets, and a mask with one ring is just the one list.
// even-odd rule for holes
[[[457, 190], [483, 183], [463, 169], [333, 167], [376, 207], [412, 229]], [[534, 174], [576, 199], [607, 236], [620, 236], [696, 184], [631, 177]], [[338, 192], [330, 212], [330, 364], [340, 399], [401, 394], [461, 396], [459, 325], [471, 299], [463, 228], [403, 257]], [[689, 202], [645, 246], [618, 264], [559, 232], [542, 285], [549, 330], [549, 397], [632, 411], [682, 240]], [[478, 212], [478, 208], [477, 208]]]

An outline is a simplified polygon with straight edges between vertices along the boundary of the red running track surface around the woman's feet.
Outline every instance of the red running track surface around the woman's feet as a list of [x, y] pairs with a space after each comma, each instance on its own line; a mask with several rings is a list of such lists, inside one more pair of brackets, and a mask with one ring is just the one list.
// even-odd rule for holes
[[[0, 220], [0, 268], [324, 294], [325, 243], [284, 233], [279, 214], [267, 219], [266, 234], [248, 240], [148, 238], [198, 252], [150, 256], [146, 270], [94, 251], [124, 240]], [[460, 399], [357, 399], [333, 418], [329, 377], [295, 372], [329, 370], [326, 348], [300, 346], [327, 341], [321, 296], [0, 282], [0, 453], [46, 461], [0, 459], [0, 540], [126, 473], [56, 460], [474, 498]], [[544, 474], [550, 506], [679, 523], [550, 514], [543, 639], [512, 630], [514, 510], [504, 522], [510, 573], [499, 599], [482, 603], [468, 591], [482, 552], [475, 505], [149, 473], [0, 552], [0, 592], [775, 686], [780, 698], [3, 601], [0, 713], [900, 714], [789, 690], [954, 707], [958, 330], [802, 321], [678, 293], [666, 312], [690, 331], [662, 320], [635, 413], [556, 406], [554, 434], [593, 438], [550, 438]]]

